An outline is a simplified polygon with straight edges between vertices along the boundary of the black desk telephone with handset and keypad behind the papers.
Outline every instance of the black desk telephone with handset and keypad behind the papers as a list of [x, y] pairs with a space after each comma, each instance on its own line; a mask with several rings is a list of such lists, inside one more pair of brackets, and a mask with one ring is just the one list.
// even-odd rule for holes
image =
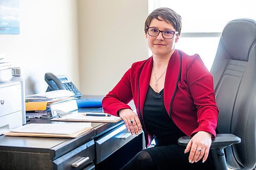
[[65, 75], [55, 76], [51, 72], [47, 72], [45, 74], [45, 81], [48, 84], [48, 88], [46, 91], [70, 90], [75, 94], [74, 96], [76, 98], [82, 96], [81, 92]]

